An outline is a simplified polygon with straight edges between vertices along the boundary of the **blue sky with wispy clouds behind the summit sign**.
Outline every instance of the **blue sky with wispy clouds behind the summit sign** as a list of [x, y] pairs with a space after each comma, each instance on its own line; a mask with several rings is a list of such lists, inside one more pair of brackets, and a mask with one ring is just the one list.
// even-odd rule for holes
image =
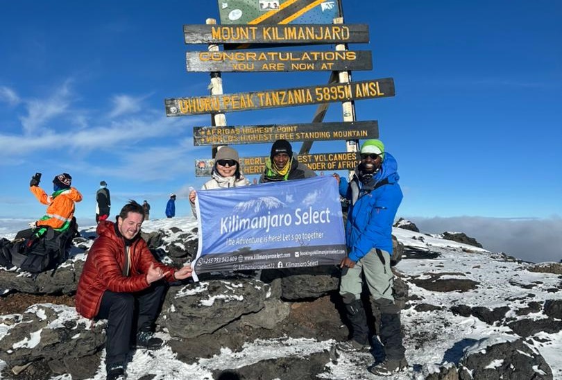
[[[399, 216], [562, 216], [562, 2], [343, 1], [346, 23], [368, 23], [373, 70], [396, 96], [357, 101], [358, 120], [379, 121], [398, 159], [405, 199]], [[194, 126], [210, 116], [167, 118], [164, 98], [205, 96], [209, 76], [187, 73], [182, 26], [219, 17], [206, 1], [20, 1], [0, 13], [0, 217], [44, 213], [28, 191], [71, 173], [93, 218], [105, 180], [116, 214], [146, 199], [164, 216], [170, 192], [189, 215]], [[314, 50], [303, 46], [302, 50]], [[327, 46], [324, 49], [333, 49]], [[225, 93], [327, 83], [329, 73], [223, 74]], [[229, 125], [308, 123], [316, 106], [226, 114]], [[330, 105], [325, 121], [341, 121]], [[298, 151], [300, 143], [293, 144]], [[269, 144], [235, 146], [267, 155]], [[312, 153], [343, 151], [343, 141]]]

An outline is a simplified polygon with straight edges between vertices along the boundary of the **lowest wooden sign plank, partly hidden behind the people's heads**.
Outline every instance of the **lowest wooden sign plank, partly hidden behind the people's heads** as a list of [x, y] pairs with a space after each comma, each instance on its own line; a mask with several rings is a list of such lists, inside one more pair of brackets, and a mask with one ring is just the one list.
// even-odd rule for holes
[[[240, 169], [244, 175], [260, 175], [264, 173], [265, 160], [264, 157], [241, 157]], [[353, 170], [359, 162], [357, 152], [341, 152], [341, 153], [316, 153], [308, 155], [299, 155], [298, 162], [303, 162], [313, 171], [337, 171], [337, 170]], [[214, 159], [196, 159], [195, 175], [196, 177], [208, 177], [212, 173]]]

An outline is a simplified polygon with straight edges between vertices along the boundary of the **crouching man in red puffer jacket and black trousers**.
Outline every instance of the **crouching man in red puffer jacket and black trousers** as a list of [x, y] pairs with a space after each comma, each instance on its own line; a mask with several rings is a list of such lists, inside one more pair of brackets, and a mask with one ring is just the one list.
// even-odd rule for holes
[[[142, 205], [131, 200], [121, 209], [117, 223], [99, 222], [99, 237], [87, 254], [76, 290], [76, 311], [81, 316], [108, 320], [108, 380], [124, 375], [131, 344], [148, 349], [162, 345], [152, 331], [166, 282], [191, 276], [191, 266], [177, 269], [156, 261], [139, 233], [143, 221]], [[131, 342], [133, 331], [136, 338]]]

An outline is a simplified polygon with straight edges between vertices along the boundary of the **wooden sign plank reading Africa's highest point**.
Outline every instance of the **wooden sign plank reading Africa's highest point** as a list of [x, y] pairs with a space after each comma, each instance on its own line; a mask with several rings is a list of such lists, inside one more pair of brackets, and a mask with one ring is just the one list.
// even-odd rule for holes
[[333, 123], [270, 124], [263, 126], [194, 127], [194, 146], [262, 144], [278, 139], [287, 141], [330, 141], [377, 139], [377, 121]]

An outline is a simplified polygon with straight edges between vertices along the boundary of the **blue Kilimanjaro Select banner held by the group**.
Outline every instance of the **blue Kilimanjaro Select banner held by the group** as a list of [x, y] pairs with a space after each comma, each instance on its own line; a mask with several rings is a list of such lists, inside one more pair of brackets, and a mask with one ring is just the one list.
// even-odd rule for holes
[[331, 175], [197, 191], [196, 273], [339, 264], [346, 236]]

